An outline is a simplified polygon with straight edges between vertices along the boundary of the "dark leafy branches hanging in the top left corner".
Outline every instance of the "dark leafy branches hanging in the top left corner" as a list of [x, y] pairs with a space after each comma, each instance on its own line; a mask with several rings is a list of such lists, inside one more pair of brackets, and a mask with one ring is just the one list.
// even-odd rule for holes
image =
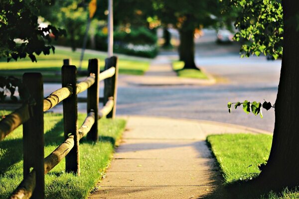
[[40, 28], [37, 22], [39, 8], [53, 3], [53, 0], [1, 0], [0, 58], [7, 57], [9, 61], [28, 55], [36, 62], [35, 55], [48, 55], [51, 49], [54, 52], [50, 33], [56, 40], [66, 34], [65, 30], [51, 25]]

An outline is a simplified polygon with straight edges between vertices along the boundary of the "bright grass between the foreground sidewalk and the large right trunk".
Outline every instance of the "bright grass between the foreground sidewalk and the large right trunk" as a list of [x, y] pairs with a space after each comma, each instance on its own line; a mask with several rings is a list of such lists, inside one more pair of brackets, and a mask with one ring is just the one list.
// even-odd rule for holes
[[[258, 165], [268, 160], [272, 136], [265, 134], [209, 135], [207, 142], [219, 163], [224, 184], [229, 186], [246, 182], [260, 174]], [[270, 192], [260, 198], [298, 199], [299, 192], [285, 189], [281, 193]]]

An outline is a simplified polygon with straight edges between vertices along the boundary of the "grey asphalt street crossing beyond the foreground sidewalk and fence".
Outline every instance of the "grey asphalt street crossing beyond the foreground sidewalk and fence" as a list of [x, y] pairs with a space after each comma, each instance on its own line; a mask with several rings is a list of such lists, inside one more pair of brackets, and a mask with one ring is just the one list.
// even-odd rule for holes
[[[281, 60], [267, 61], [265, 57], [240, 58], [237, 44], [218, 45], [215, 32], [208, 31], [196, 40], [196, 64], [218, 80], [212, 86], [137, 86], [118, 87], [118, 115], [167, 116], [212, 120], [273, 131], [274, 109], [263, 111], [264, 118], [246, 114], [241, 107], [228, 113], [227, 102], [275, 102]], [[175, 51], [162, 52], [167, 58], [177, 58]], [[122, 75], [120, 75], [122, 78]], [[59, 84], [46, 84], [45, 95], [58, 89]], [[103, 87], [102, 87], [103, 88]], [[80, 94], [81, 97], [85, 93]], [[86, 111], [86, 104], [78, 104]], [[62, 111], [62, 105], [53, 108]]]

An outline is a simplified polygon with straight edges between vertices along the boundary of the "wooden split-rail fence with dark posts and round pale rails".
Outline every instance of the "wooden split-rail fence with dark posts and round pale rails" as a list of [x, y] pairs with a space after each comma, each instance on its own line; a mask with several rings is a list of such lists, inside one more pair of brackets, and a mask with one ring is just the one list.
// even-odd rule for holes
[[[0, 121], [0, 140], [23, 124], [23, 181], [10, 199], [43, 199], [44, 175], [64, 157], [65, 171], [80, 175], [79, 140], [98, 141], [98, 119], [114, 118], [116, 111], [118, 66], [117, 57], [105, 60], [105, 70], [100, 73], [97, 59], [88, 63], [89, 77], [77, 84], [77, 69], [64, 60], [61, 69], [62, 88], [44, 99], [43, 80], [40, 73], [24, 73], [23, 84], [31, 96], [22, 106]], [[99, 83], [104, 80], [104, 98], [99, 98]], [[87, 90], [87, 117], [78, 128], [77, 95]], [[99, 100], [103, 108], [98, 110]], [[63, 102], [64, 138], [50, 155], [44, 158], [43, 113]], [[31, 169], [33, 168], [33, 169]], [[31, 170], [31, 171], [30, 171]]]

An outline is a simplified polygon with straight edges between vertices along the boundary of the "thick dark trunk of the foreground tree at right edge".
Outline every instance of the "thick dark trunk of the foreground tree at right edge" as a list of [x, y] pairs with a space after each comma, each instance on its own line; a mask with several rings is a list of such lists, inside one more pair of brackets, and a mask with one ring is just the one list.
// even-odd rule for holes
[[272, 188], [299, 185], [299, 1], [283, 0], [284, 52], [269, 160], [259, 177]]

